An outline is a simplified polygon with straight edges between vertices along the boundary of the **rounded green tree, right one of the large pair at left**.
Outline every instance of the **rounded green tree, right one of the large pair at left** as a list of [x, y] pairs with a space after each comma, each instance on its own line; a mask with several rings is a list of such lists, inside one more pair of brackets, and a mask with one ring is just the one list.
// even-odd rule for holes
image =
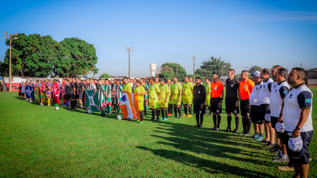
[[53, 73], [60, 77], [74, 77], [98, 73], [96, 48], [79, 38], [65, 38], [59, 42], [53, 60]]

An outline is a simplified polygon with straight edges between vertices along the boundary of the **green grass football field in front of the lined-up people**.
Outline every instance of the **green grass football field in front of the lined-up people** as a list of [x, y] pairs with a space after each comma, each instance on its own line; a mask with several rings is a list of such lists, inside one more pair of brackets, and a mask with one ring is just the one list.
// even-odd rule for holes
[[[313, 108], [316, 105], [317, 88]], [[69, 111], [0, 92], [0, 177], [292, 177], [273, 154], [248, 137], [215, 132], [212, 117], [196, 129], [195, 116], [144, 124]], [[223, 106], [224, 112], [224, 106]], [[317, 112], [313, 110], [314, 127]], [[232, 121], [234, 125], [234, 119]], [[252, 126], [253, 127], [253, 126]], [[254, 133], [251, 127], [251, 134]], [[243, 130], [240, 118], [240, 131]], [[316, 132], [308, 177], [317, 175]]]

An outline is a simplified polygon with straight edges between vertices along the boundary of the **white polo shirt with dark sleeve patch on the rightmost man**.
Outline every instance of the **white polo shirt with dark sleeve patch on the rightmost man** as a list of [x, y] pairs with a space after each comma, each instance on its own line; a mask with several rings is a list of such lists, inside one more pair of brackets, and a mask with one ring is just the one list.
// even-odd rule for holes
[[313, 93], [302, 83], [291, 89], [284, 99], [283, 122], [286, 131], [292, 132], [299, 122], [302, 109], [310, 109], [307, 121], [301, 132], [313, 130]]

